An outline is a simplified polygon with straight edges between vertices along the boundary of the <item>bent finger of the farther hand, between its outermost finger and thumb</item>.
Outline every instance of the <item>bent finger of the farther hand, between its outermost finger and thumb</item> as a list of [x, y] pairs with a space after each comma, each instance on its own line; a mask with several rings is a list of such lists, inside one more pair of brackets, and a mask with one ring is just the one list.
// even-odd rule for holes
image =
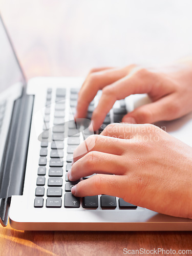
[[101, 98], [92, 115], [93, 130], [99, 129], [106, 114], [109, 113], [116, 100], [123, 99], [131, 94], [149, 93], [152, 90], [154, 74], [146, 71], [137, 71], [119, 79], [102, 90]]

